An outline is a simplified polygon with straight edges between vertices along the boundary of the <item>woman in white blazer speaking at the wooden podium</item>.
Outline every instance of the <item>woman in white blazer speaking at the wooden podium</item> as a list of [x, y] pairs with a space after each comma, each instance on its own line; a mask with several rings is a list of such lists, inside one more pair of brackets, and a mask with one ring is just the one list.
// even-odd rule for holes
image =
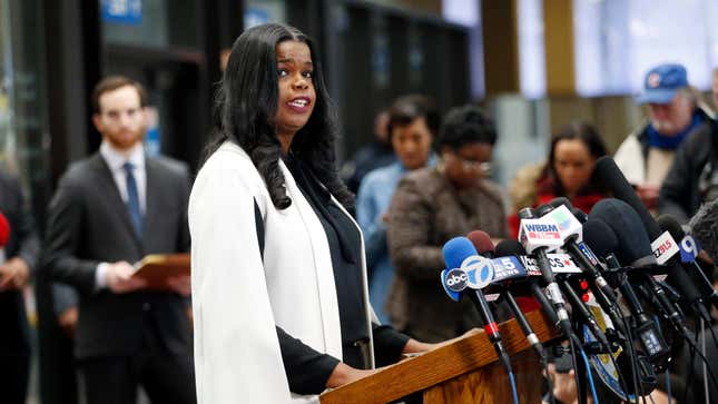
[[312, 41], [269, 23], [234, 43], [189, 201], [199, 403], [305, 403], [431, 347], [368, 304], [336, 115]]

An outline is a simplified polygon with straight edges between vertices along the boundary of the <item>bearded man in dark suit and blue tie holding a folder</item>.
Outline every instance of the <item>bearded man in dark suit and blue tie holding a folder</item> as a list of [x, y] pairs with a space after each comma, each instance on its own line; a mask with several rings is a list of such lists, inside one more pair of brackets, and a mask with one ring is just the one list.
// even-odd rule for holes
[[79, 294], [75, 355], [88, 404], [195, 403], [189, 277], [167, 292], [132, 278], [148, 254], [187, 252], [187, 166], [145, 156], [146, 93], [124, 77], [95, 88], [99, 152], [75, 162], [49, 207], [43, 268]]

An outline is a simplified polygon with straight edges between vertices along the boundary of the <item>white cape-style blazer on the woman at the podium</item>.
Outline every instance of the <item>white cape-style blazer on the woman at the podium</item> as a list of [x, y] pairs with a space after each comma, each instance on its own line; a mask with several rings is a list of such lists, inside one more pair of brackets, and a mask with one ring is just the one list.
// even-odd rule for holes
[[[342, 358], [326, 235], [282, 160], [279, 167], [292, 198], [284, 210], [274, 207], [249, 156], [235, 144], [219, 147], [195, 180], [189, 230], [199, 404], [318, 403], [317, 396], [289, 392], [275, 325]], [[264, 218], [264, 263], [254, 200]], [[363, 238], [361, 255], [371, 336], [377, 321], [366, 293]]]

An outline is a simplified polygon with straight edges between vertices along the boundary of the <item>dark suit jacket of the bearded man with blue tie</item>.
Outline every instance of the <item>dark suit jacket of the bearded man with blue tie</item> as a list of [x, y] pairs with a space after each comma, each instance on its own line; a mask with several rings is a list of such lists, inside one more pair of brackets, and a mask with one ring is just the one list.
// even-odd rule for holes
[[168, 352], [191, 352], [187, 300], [181, 296], [96, 288], [95, 272], [101, 262], [132, 264], [148, 254], [189, 248], [186, 165], [147, 157], [145, 167], [147, 208], [141, 239], [99, 152], [73, 164], [50, 201], [42, 263], [55, 280], [79, 293], [78, 358], [134, 355], [141, 349], [144, 327], [149, 324], [156, 325], [159, 344]]

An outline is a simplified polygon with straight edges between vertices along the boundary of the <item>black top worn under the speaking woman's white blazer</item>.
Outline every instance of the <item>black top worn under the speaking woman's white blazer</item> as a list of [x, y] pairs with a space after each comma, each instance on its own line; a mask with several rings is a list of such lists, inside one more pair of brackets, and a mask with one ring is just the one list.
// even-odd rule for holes
[[[295, 158], [285, 159], [302, 194], [324, 227], [332, 256], [342, 331], [344, 363], [367, 368], [362, 355], [362, 343], [368, 342], [365, 326], [365, 306], [362, 295], [361, 236], [357, 227], [332, 201], [330, 193], [312, 176], [309, 169]], [[372, 324], [377, 365], [399, 359], [409, 337], [388, 326]], [[282, 359], [289, 390], [298, 394], [318, 394], [338, 364], [338, 359], [322, 354], [277, 327]], [[357, 344], [357, 342], [360, 342]]]

